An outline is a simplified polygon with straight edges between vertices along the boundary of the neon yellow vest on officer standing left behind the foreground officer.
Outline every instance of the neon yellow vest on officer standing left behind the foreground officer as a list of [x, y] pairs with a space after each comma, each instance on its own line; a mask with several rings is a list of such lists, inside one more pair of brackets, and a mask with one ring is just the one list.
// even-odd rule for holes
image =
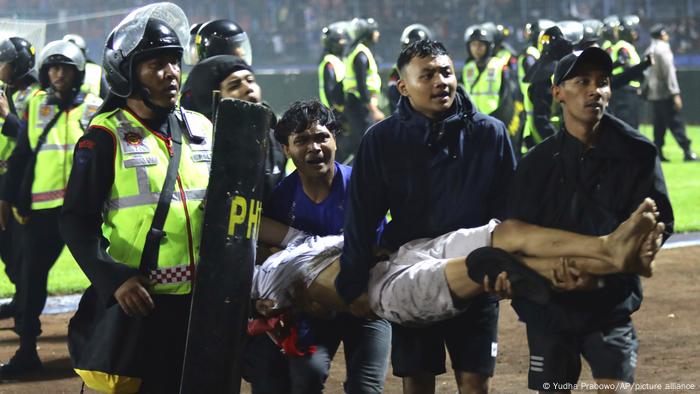
[[[58, 106], [47, 103], [50, 97], [42, 92], [29, 101], [27, 138], [32, 150], [36, 149], [46, 124], [58, 112]], [[34, 164], [32, 210], [63, 205], [63, 196], [73, 166], [73, 147], [83, 136], [90, 117], [101, 104], [102, 100], [99, 97], [90, 93], [84, 95], [80, 105], [61, 113], [56, 124], [46, 135], [46, 141], [39, 148]]]

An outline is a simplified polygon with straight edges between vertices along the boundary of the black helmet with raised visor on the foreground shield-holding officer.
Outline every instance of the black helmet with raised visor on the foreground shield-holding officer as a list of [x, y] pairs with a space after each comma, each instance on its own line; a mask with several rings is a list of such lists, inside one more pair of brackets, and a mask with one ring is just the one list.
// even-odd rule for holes
[[132, 11], [107, 37], [102, 66], [111, 92], [129, 97], [138, 88], [138, 61], [163, 51], [182, 56], [188, 34], [187, 17], [175, 4], [156, 3]]

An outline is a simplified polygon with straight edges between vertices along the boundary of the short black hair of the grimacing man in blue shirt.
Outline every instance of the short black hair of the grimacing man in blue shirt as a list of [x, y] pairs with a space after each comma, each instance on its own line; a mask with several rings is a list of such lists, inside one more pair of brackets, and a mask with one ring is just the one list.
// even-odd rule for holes
[[333, 136], [340, 130], [340, 123], [335, 120], [333, 111], [320, 101], [297, 101], [277, 122], [275, 139], [282, 145], [289, 145], [290, 135], [308, 130], [315, 124], [325, 126]]

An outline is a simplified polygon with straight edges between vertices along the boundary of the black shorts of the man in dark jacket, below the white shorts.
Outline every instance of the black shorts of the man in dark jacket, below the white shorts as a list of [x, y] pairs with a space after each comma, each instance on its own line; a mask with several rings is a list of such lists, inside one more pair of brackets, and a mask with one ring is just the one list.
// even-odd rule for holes
[[498, 352], [498, 302], [479, 296], [462, 314], [427, 327], [392, 324], [395, 376], [445, 373], [445, 347], [452, 368], [493, 376]]

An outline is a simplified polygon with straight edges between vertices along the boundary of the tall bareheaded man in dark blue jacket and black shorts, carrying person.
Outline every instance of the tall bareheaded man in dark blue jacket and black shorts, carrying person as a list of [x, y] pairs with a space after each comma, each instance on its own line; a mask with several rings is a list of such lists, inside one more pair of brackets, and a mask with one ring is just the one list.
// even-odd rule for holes
[[[350, 181], [345, 246], [336, 287], [351, 311], [371, 314], [372, 246], [387, 211], [380, 246], [395, 251], [418, 238], [501, 218], [514, 172], [505, 126], [476, 112], [457, 90], [444, 46], [421, 40], [397, 61], [401, 99], [397, 112], [372, 126], [360, 145]], [[466, 268], [465, 268], [466, 275]], [[431, 392], [445, 372], [445, 344], [461, 392], [488, 389], [497, 353], [498, 304], [490, 295], [470, 301], [461, 315], [424, 328], [393, 325], [394, 374], [404, 392]]]

